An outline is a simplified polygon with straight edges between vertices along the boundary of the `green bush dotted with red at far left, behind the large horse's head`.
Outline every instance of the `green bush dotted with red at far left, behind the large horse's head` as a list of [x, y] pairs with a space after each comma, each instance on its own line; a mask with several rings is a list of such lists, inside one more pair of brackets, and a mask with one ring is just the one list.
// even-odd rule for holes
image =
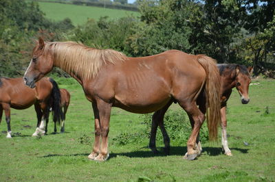
[[34, 2], [3, 0], [0, 11], [0, 75], [5, 77], [23, 75], [34, 47], [33, 38], [38, 34], [53, 41], [74, 27], [69, 19], [47, 20]]

